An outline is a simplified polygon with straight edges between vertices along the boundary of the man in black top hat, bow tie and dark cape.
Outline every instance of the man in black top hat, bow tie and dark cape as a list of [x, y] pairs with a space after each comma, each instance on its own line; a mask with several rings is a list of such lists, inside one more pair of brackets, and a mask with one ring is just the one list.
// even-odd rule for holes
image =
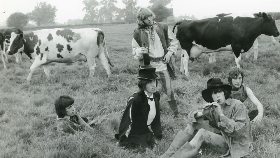
[[154, 67], [140, 66], [136, 78], [139, 90], [129, 97], [115, 138], [120, 146], [145, 152], [162, 138], [158, 76]]

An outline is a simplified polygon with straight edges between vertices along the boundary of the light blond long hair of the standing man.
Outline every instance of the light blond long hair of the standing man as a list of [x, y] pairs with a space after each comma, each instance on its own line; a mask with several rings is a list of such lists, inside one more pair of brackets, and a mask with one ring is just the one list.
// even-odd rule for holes
[[155, 14], [148, 8], [140, 7], [136, 13], [137, 21], [136, 24], [138, 28], [144, 28], [146, 24], [143, 22], [144, 19], [152, 16], [152, 19], [155, 20]]

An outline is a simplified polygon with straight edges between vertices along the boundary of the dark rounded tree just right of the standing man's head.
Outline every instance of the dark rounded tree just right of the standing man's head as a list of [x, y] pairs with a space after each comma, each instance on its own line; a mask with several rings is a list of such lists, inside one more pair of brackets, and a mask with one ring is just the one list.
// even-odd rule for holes
[[169, 16], [169, 11], [163, 4], [154, 5], [151, 10], [155, 14], [155, 21], [162, 22]]

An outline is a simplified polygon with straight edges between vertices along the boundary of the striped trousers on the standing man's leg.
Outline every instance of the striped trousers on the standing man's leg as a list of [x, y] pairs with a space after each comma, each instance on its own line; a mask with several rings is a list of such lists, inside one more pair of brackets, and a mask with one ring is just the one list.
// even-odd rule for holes
[[158, 75], [158, 81], [161, 83], [166, 95], [167, 95], [167, 100], [176, 100], [175, 99], [175, 94], [173, 90], [173, 86], [171, 84], [171, 78], [167, 70], [163, 71], [158, 71], [155, 72], [155, 74]]

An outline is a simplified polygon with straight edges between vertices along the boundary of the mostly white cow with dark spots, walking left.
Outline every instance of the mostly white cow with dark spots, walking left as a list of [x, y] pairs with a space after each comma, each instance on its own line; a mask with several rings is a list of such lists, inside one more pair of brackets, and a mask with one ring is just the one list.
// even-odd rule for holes
[[12, 55], [20, 51], [24, 52], [33, 61], [29, 68], [28, 82], [31, 80], [33, 71], [41, 65], [45, 74], [49, 77], [49, 63], [52, 62], [87, 61], [90, 77], [95, 72], [95, 57], [101, 61], [108, 77], [111, 75], [109, 64], [113, 66], [106, 48], [104, 32], [98, 28], [55, 28], [37, 30], [28, 34], [12, 32], [7, 52]]

